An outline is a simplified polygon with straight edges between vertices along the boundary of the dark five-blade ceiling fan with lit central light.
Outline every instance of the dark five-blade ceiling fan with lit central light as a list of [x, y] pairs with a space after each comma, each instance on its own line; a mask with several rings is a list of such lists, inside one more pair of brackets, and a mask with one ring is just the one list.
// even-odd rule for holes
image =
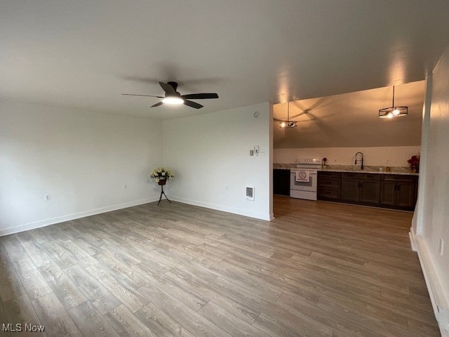
[[[210, 98], [218, 98], [216, 93], [188, 93], [187, 95], [181, 95], [176, 91], [177, 83], [170, 81], [167, 83], [159, 82], [159, 85], [166, 92], [165, 96], [155, 96], [155, 95], [138, 95], [136, 93], [122, 93], [122, 95], [128, 96], [146, 96], [146, 97], [156, 97], [162, 98], [161, 102], [152, 105], [151, 107], [159, 107], [159, 105], [187, 105], [188, 107], [194, 107], [195, 109], [201, 109], [203, 105], [193, 102], [192, 100], [206, 100]], [[191, 100], [192, 99], [192, 100]]]

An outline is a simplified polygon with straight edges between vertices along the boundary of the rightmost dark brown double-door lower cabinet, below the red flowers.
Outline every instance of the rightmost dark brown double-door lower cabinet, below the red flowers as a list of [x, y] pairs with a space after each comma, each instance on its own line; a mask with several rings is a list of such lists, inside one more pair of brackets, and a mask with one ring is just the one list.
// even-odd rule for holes
[[417, 176], [382, 176], [380, 204], [395, 209], [415, 209]]

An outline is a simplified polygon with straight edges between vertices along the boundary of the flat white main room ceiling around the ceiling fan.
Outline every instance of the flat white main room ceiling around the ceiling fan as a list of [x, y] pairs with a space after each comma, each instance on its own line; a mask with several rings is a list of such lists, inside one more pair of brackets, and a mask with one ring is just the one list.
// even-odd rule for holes
[[[0, 98], [154, 118], [424, 79], [449, 1], [2, 0]], [[217, 92], [158, 107], [157, 81]]]

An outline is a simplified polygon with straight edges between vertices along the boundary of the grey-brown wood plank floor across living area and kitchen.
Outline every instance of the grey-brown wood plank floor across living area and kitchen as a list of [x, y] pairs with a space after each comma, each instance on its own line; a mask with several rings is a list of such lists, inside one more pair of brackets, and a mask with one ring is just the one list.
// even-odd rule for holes
[[0, 322], [45, 326], [4, 336], [439, 336], [411, 213], [274, 211], [152, 203], [1, 237]]

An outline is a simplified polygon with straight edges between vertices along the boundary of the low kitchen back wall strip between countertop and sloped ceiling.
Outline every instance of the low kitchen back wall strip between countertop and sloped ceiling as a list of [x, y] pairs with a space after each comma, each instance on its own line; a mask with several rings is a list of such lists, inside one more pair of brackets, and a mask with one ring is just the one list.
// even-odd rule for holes
[[354, 164], [354, 155], [359, 151], [363, 152], [364, 165], [408, 166], [407, 160], [420, 153], [420, 146], [274, 149], [273, 162], [293, 164], [296, 158], [327, 158], [328, 165], [352, 165]]

